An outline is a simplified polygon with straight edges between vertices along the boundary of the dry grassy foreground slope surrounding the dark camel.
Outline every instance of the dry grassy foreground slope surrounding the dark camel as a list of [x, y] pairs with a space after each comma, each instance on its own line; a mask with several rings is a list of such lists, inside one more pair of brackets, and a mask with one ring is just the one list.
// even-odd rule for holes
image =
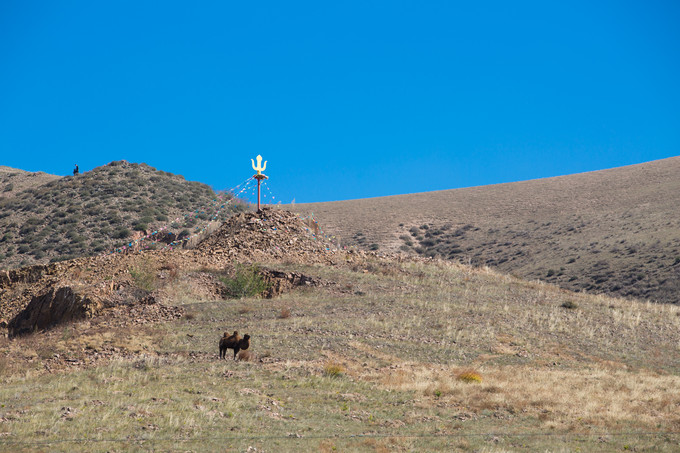
[[[269, 266], [333, 283], [205, 301], [188, 270], [181, 319], [0, 339], [0, 450], [680, 449], [677, 306], [442, 262]], [[235, 329], [251, 348], [219, 361]]]

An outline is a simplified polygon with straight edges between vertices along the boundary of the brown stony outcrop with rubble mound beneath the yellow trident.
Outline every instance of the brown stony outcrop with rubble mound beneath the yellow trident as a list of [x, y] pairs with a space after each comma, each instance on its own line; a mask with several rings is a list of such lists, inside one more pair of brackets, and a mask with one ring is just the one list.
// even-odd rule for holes
[[[0, 272], [0, 321], [5, 320], [7, 332], [15, 336], [130, 307], [160, 313], [166, 300], [172, 303], [176, 288], [171, 283], [178, 279], [193, 294], [219, 299], [225, 297], [219, 276], [240, 263], [360, 266], [365, 261], [363, 253], [337, 250], [316, 225], [307, 223], [294, 213], [265, 208], [230, 218], [195, 249], [133, 251]], [[299, 286], [326, 284], [296, 272], [263, 268], [259, 272], [268, 283], [262, 294], [266, 298]], [[153, 292], [140, 286], [141, 277], [154, 281]], [[0, 335], [4, 332], [0, 323]]]

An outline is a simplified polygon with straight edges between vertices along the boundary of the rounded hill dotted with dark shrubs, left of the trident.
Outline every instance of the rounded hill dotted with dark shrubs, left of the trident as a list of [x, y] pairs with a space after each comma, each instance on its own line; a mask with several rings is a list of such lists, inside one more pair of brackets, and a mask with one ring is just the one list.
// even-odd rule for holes
[[106, 252], [177, 217], [170, 231], [189, 234], [214, 212], [210, 187], [146, 164], [111, 162], [63, 178], [7, 170], [0, 178], [15, 187], [0, 198], [5, 269]]

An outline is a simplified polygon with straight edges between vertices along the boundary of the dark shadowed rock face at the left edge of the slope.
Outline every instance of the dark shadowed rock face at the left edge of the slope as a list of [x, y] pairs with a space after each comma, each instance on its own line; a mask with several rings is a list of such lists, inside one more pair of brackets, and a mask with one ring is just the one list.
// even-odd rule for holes
[[62, 322], [91, 318], [102, 308], [98, 298], [78, 294], [71, 287], [50, 288], [33, 297], [26, 309], [10, 321], [9, 333], [11, 336], [23, 335]]

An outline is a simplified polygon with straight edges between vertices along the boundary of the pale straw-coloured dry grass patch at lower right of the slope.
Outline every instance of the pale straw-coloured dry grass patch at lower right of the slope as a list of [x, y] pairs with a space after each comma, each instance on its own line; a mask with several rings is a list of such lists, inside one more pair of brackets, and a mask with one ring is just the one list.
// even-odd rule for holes
[[474, 411], [534, 414], [550, 429], [568, 428], [577, 421], [610, 429], [621, 422], [680, 429], [680, 393], [669, 391], [680, 385], [678, 376], [527, 366], [485, 368], [484, 376], [482, 383], [479, 374], [469, 370], [404, 364], [379, 382], [389, 389], [437, 395]]

